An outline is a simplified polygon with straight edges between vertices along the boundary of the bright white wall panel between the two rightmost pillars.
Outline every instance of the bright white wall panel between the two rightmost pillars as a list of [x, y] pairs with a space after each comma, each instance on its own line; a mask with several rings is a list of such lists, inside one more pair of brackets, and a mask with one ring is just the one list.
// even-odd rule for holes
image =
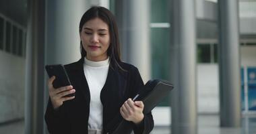
[[197, 64], [198, 113], [219, 111], [218, 64]]

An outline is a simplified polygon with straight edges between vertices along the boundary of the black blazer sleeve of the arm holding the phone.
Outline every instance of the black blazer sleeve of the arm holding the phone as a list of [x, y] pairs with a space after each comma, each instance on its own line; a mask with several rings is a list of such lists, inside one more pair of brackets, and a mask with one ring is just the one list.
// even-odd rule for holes
[[51, 98], [46, 108], [44, 120], [47, 125], [47, 129], [51, 134], [70, 134], [69, 121], [66, 119], [64, 114], [63, 105], [59, 109], [53, 109]]

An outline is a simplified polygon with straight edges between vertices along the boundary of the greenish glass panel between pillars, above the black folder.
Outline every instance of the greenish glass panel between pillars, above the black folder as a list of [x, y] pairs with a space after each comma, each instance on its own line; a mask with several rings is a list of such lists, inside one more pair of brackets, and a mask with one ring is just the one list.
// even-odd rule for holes
[[[170, 27], [168, 0], [151, 1], [151, 24], [158, 23], [150, 29], [150, 45], [152, 57], [152, 78], [169, 80], [170, 76]], [[167, 24], [167, 26], [166, 26]], [[166, 96], [158, 106], [169, 106], [170, 95]]]

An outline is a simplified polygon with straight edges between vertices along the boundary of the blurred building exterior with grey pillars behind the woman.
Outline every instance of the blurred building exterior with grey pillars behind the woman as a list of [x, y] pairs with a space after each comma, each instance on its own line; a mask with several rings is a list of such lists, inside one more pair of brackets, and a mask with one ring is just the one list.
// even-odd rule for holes
[[113, 12], [145, 83], [174, 84], [152, 134], [256, 133], [256, 0], [0, 0], [0, 133], [48, 133], [44, 66], [79, 60], [92, 5]]

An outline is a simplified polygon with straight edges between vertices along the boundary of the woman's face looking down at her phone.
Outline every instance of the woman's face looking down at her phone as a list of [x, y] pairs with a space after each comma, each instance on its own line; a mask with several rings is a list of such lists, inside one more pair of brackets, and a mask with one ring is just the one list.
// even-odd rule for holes
[[102, 19], [96, 17], [84, 23], [80, 33], [80, 40], [86, 58], [92, 61], [102, 61], [108, 58], [107, 50], [110, 45], [108, 25]]

